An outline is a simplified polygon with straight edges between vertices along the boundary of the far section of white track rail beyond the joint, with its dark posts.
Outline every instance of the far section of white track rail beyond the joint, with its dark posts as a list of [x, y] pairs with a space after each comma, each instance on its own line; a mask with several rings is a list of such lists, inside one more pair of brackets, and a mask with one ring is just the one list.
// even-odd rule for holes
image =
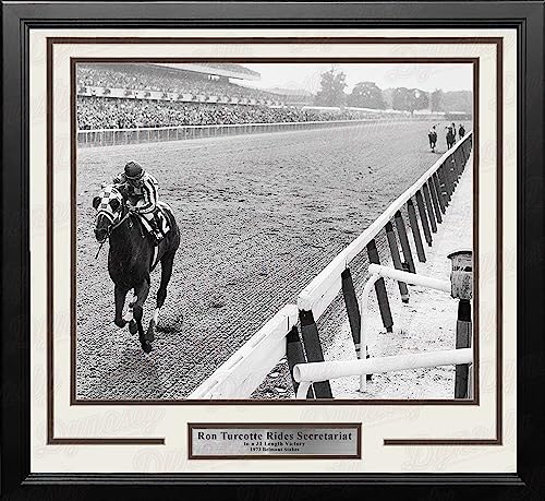
[[[324, 361], [316, 322], [341, 291], [356, 355], [359, 358], [365, 358], [366, 346], [361, 345], [362, 318], [350, 263], [363, 251], [366, 251], [371, 264], [380, 264], [375, 239], [379, 232], [385, 230], [390, 250], [390, 255], [387, 259], [392, 261], [396, 269], [408, 270], [414, 274], [416, 271], [415, 260], [409, 244], [405, 217], [401, 210], [407, 208], [408, 224], [414, 239], [417, 259], [425, 262], [422, 235], [427, 244], [432, 246], [432, 234], [437, 231], [437, 224], [443, 223], [441, 214], [446, 212], [458, 180], [463, 172], [471, 153], [472, 141], [473, 134], [469, 133], [462, 141], [459, 141], [452, 148], [441, 155], [412, 187], [393, 201], [363, 234], [341, 251], [301, 291], [298, 298], [298, 307], [300, 310], [302, 344], [306, 354], [306, 360], [302, 360], [302, 362]], [[420, 217], [416, 216], [416, 207]], [[397, 231], [393, 231], [393, 226], [396, 226]], [[399, 247], [401, 247], [401, 251]], [[401, 261], [401, 255], [403, 261]], [[368, 270], [366, 272], [368, 274]], [[383, 325], [387, 332], [392, 332], [393, 321], [384, 279], [378, 278], [374, 283], [374, 287]], [[399, 282], [399, 288], [401, 296], [408, 297], [407, 283]], [[312, 386], [317, 398], [332, 397], [328, 381], [317, 382]]]

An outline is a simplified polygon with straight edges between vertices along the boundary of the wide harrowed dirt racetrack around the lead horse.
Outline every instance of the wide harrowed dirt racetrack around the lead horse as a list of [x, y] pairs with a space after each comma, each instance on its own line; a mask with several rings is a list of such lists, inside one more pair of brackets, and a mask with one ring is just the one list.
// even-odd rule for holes
[[[429, 152], [428, 127], [385, 121], [80, 148], [76, 397], [184, 398], [283, 305], [295, 302], [445, 152], [443, 133], [439, 152]], [[107, 244], [95, 260], [93, 196], [131, 159], [158, 179], [159, 199], [173, 208], [182, 234], [149, 355], [137, 335], [113, 324]], [[159, 270], [152, 276], [146, 325], [159, 276]]]

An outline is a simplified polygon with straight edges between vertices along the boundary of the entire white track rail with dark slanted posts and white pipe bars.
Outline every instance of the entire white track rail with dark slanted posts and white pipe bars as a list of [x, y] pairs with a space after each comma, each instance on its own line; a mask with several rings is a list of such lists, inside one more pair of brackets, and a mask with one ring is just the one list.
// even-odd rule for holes
[[[295, 392], [299, 392], [298, 397], [306, 395], [306, 397], [316, 398], [332, 398], [328, 380], [341, 377], [335, 375], [337, 373], [344, 374], [348, 371], [350, 374], [361, 375], [398, 370], [391, 369], [391, 367], [401, 367], [399, 370], [404, 370], [413, 368], [414, 363], [416, 363], [415, 367], [471, 363], [472, 358], [469, 354], [472, 350], [470, 348], [365, 360], [365, 346], [361, 350], [362, 341], [365, 345], [365, 339], [361, 338], [362, 313], [364, 312], [360, 311], [350, 264], [354, 258], [366, 251], [370, 262], [370, 266], [365, 271], [366, 275], [368, 275], [370, 269], [375, 274], [377, 271], [384, 272], [380, 270], [382, 267], [371, 266], [380, 264], [375, 239], [379, 232], [386, 230], [389, 246], [387, 259], [391, 260], [395, 269], [399, 272], [389, 269], [388, 273], [398, 281], [403, 301], [409, 300], [408, 284], [417, 284], [421, 281], [415, 275], [416, 265], [409, 244], [405, 223], [411, 228], [416, 257], [419, 261], [423, 262], [425, 261], [425, 251], [422, 234], [428, 246], [432, 246], [432, 234], [437, 230], [437, 224], [443, 223], [441, 214], [448, 208], [451, 195], [463, 172], [472, 150], [472, 141], [473, 134], [470, 132], [441, 155], [414, 184], [393, 201], [365, 231], [341, 251], [299, 294], [296, 306], [288, 305], [280, 310], [242, 348], [201, 384], [189, 398], [247, 398], [264, 381], [268, 372], [284, 357], [288, 359]], [[415, 207], [417, 207], [420, 217], [416, 216]], [[403, 214], [404, 208], [407, 208], [408, 215]], [[408, 220], [405, 222], [405, 219]], [[396, 231], [393, 231], [393, 227], [396, 227]], [[385, 274], [387, 273], [385, 272]], [[409, 279], [409, 275], [411, 279]], [[445, 291], [447, 287], [450, 287], [446, 282], [434, 278], [425, 277], [425, 282], [427, 286]], [[392, 332], [393, 322], [384, 278], [376, 276], [373, 286], [377, 294], [383, 324], [388, 332]], [[316, 322], [341, 291], [354, 347], [359, 358], [362, 357], [363, 360], [325, 362]], [[416, 358], [411, 358], [415, 356]], [[320, 363], [326, 363], [326, 366]], [[350, 363], [349, 368], [341, 369], [346, 363]], [[419, 363], [432, 363], [432, 366], [419, 366]], [[319, 373], [319, 377], [316, 377], [315, 372], [312, 371], [317, 371], [318, 367], [325, 367], [325, 369], [324, 372]], [[330, 368], [335, 368], [335, 371], [328, 372], [334, 370]], [[323, 374], [327, 377], [323, 377]], [[304, 387], [299, 387], [300, 382], [305, 383]]]

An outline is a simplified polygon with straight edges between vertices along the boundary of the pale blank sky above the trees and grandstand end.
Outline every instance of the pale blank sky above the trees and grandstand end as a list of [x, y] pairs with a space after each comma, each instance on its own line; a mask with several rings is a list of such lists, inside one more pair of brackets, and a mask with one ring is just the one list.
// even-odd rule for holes
[[[409, 87], [431, 92], [441, 88], [449, 91], [471, 91], [473, 86], [472, 65], [433, 63], [383, 63], [383, 64], [331, 64], [331, 63], [244, 63], [245, 68], [257, 71], [262, 80], [243, 84], [257, 88], [282, 87], [303, 88], [315, 93], [319, 90], [319, 75], [335, 68], [347, 75], [350, 93], [358, 82], [375, 82], [380, 88]], [[242, 82], [241, 82], [242, 83]]]

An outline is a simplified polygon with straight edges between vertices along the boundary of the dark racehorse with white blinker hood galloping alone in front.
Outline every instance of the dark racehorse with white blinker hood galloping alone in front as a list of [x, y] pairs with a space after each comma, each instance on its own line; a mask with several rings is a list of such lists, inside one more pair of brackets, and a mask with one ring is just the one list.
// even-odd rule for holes
[[[131, 334], [138, 333], [142, 349], [152, 351], [155, 339], [155, 327], [159, 321], [159, 312], [167, 298], [167, 286], [172, 275], [174, 254], [180, 247], [180, 229], [172, 211], [166, 204], [165, 213], [170, 230], [156, 248], [153, 238], [144, 229], [140, 216], [131, 212], [126, 205], [126, 193], [117, 184], [105, 186], [99, 195], [93, 199], [93, 207], [97, 211], [95, 238], [102, 246], [110, 241], [108, 252], [108, 273], [113, 281], [116, 299], [116, 317], [118, 327], [129, 322]], [[157, 291], [157, 306], [147, 332], [144, 333], [142, 318], [144, 302], [149, 294], [149, 275], [156, 264], [161, 263], [161, 282]], [[122, 317], [126, 294], [134, 290], [135, 300], [132, 307], [133, 318], [129, 321]]]

